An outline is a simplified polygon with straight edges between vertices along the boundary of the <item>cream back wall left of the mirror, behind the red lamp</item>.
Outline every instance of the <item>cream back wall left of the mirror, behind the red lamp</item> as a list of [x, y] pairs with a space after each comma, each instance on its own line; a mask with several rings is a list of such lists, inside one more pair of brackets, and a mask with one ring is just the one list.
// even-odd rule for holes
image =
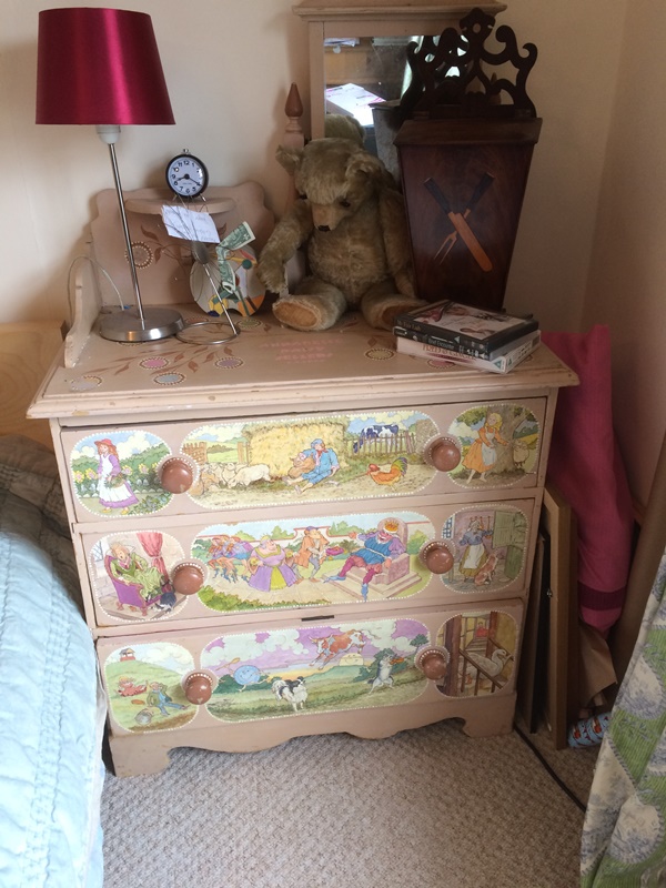
[[[40, 9], [53, 0], [3, 0], [0, 30], [0, 144], [11, 158], [0, 213], [0, 322], [62, 319], [68, 270], [81, 253], [91, 195], [112, 188], [108, 149], [92, 127], [34, 123]], [[281, 209], [286, 174], [273, 159], [290, 83], [306, 82], [306, 28], [291, 0], [178, 0], [87, 6], [149, 12], [176, 120], [127, 127], [118, 143], [124, 190], [161, 185], [184, 147], [212, 184], [260, 181]]]

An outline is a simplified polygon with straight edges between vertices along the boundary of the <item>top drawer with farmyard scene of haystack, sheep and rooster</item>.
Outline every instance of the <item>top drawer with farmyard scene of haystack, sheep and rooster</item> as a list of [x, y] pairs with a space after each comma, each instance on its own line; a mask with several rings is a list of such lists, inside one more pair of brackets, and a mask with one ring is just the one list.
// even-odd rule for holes
[[[85, 522], [533, 487], [545, 471], [545, 410], [536, 397], [63, 430], [61, 441]], [[165, 490], [165, 463], [183, 493]]]

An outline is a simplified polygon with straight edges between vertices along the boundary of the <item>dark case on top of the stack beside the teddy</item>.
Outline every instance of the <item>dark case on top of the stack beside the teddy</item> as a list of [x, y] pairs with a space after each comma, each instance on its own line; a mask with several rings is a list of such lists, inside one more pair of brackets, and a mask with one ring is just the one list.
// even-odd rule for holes
[[538, 321], [534, 317], [516, 317], [443, 300], [398, 314], [393, 332], [396, 336], [420, 333], [431, 337], [431, 345], [474, 357], [490, 357], [498, 355], [501, 347], [511, 347], [511, 343], [535, 330], [538, 330]]

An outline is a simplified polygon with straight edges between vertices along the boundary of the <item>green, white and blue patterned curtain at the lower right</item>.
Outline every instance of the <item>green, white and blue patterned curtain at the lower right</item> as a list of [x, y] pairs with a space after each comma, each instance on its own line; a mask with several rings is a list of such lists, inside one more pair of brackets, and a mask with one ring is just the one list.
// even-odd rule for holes
[[666, 886], [666, 552], [599, 749], [581, 885]]

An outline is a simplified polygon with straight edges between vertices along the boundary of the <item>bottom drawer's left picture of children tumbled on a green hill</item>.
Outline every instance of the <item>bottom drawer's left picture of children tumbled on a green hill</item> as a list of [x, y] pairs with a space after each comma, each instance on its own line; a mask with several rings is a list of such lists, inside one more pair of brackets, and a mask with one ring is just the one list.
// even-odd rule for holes
[[112, 650], [104, 660], [104, 682], [115, 724], [134, 734], [186, 725], [198, 707], [188, 702], [182, 679], [193, 669], [192, 654], [173, 642]]

